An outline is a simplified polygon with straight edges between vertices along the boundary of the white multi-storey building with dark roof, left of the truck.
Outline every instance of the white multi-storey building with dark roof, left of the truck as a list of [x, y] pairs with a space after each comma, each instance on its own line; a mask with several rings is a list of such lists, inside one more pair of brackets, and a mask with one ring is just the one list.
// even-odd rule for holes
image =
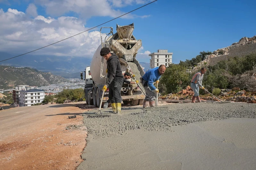
[[20, 106], [31, 106], [33, 104], [41, 103], [45, 98], [45, 92], [39, 89], [21, 90], [20, 92]]

